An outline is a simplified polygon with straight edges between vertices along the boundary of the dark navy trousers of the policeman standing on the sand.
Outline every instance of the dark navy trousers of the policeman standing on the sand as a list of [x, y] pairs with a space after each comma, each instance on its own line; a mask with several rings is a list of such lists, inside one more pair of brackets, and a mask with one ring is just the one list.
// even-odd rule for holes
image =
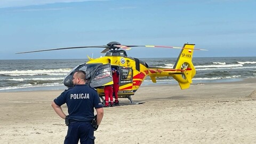
[[93, 144], [95, 137], [91, 122], [71, 122], [68, 125], [64, 144]]

